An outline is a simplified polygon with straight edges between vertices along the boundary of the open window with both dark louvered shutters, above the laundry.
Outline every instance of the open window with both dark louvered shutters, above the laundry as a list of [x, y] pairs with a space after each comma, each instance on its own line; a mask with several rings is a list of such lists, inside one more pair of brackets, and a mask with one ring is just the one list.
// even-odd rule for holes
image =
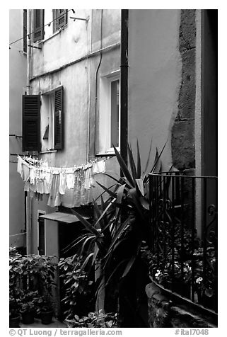
[[63, 149], [63, 92], [43, 94], [41, 110], [40, 95], [23, 95], [23, 151]]

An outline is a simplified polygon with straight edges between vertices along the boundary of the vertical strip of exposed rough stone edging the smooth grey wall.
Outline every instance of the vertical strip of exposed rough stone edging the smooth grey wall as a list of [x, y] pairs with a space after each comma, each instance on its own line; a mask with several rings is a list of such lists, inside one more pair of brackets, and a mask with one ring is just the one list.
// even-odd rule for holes
[[177, 169], [194, 169], [194, 108], [195, 108], [195, 10], [182, 9], [180, 16], [179, 50], [182, 57], [182, 79], [178, 113], [172, 129], [173, 165]]

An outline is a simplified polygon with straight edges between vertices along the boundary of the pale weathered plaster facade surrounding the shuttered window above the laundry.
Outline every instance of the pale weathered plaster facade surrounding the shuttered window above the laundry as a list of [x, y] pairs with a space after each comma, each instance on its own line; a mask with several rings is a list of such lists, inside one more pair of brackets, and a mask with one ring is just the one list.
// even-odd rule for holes
[[[73, 16], [72, 13], [69, 14]], [[30, 93], [45, 93], [57, 86], [64, 86], [64, 149], [41, 155], [42, 159], [47, 159], [49, 166], [69, 167], [85, 164], [98, 152], [100, 76], [120, 69], [120, 46], [103, 52], [101, 63], [100, 53], [98, 53], [71, 64], [59, 72], [52, 74], [48, 72], [85, 57], [90, 52], [99, 50], [100, 47], [120, 42], [120, 10], [103, 10], [102, 32], [101, 15], [101, 10], [76, 11], [78, 17], [90, 17], [88, 25], [83, 21], [74, 22], [69, 19], [68, 25], [60, 33], [41, 43], [42, 50], [32, 50]], [[101, 36], [102, 42], [100, 42]], [[47, 74], [39, 76], [44, 73]], [[44, 105], [41, 107], [41, 116], [43, 109]], [[45, 125], [41, 124], [41, 130], [42, 138]], [[111, 175], [118, 173], [119, 168], [115, 157], [106, 161], [106, 169]], [[95, 178], [103, 185], [112, 185], [112, 179], [105, 175], [100, 174]], [[96, 184], [93, 188], [93, 198], [98, 197], [100, 193], [103, 193], [103, 189]], [[34, 253], [37, 252], [37, 210], [50, 213], [54, 212], [55, 208], [47, 206], [46, 197], [42, 201], [33, 202], [32, 251]], [[57, 242], [57, 222], [48, 222], [46, 228], [47, 236], [49, 235], [48, 246], [50, 243], [47, 253], [54, 253], [54, 250], [57, 253], [58, 246], [52, 246]]]

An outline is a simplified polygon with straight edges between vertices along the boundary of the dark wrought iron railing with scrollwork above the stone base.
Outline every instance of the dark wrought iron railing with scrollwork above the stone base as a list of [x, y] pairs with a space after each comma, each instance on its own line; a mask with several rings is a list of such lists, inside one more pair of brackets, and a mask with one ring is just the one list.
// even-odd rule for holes
[[152, 173], [149, 186], [151, 277], [217, 312], [217, 178]]

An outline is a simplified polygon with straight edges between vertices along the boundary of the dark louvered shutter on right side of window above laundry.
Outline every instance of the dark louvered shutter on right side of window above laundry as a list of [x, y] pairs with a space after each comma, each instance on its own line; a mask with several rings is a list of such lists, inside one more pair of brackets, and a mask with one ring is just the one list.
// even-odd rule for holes
[[54, 92], [54, 149], [63, 148], [63, 86]]

